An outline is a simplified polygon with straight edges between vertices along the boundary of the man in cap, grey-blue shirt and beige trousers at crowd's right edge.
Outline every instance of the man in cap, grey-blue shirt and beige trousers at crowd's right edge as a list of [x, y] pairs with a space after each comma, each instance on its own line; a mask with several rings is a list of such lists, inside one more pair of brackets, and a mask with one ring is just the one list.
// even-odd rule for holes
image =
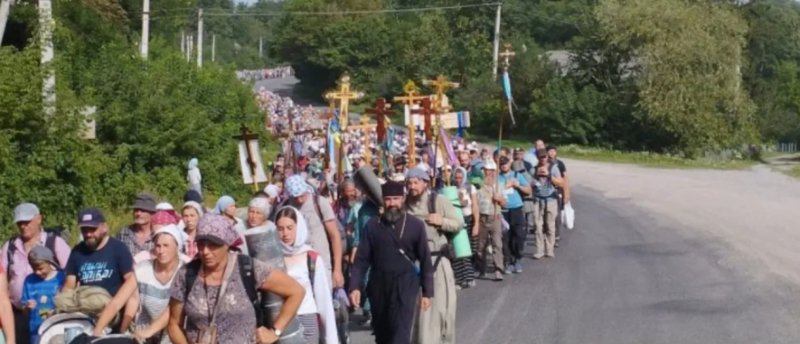
[[[554, 247], [556, 243], [556, 216], [558, 216], [558, 191], [557, 188], [564, 187], [564, 179], [555, 163], [548, 160], [547, 151], [540, 149], [536, 151], [536, 158], [539, 164], [536, 166], [534, 176], [533, 194], [536, 197], [536, 253], [534, 259], [542, 257], [555, 257]], [[544, 231], [544, 227], [547, 231]]]

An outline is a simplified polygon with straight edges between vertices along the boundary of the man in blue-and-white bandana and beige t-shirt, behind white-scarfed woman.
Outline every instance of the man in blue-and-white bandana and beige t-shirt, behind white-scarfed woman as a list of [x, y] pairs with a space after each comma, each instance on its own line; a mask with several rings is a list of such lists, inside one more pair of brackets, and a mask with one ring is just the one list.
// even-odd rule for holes
[[[326, 273], [332, 285], [343, 286], [342, 238], [330, 202], [315, 194], [311, 185], [299, 175], [286, 178], [286, 194], [289, 196], [289, 205], [300, 210], [306, 219], [309, 243], [325, 260]], [[313, 197], [316, 197], [316, 200]]]

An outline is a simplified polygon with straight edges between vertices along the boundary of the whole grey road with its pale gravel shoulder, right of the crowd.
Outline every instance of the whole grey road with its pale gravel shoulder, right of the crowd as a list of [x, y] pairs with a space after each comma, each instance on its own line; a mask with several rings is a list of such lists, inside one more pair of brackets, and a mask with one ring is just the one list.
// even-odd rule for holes
[[[554, 259], [460, 291], [457, 343], [800, 343], [800, 184], [758, 168], [568, 166], [575, 229]], [[353, 343], [372, 342], [353, 326]]]

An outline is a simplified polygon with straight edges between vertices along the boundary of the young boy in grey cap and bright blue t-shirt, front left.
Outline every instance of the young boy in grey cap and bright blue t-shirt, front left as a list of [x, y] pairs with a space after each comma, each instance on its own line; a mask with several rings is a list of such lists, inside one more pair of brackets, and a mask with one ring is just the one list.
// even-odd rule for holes
[[28, 254], [28, 262], [33, 273], [23, 282], [22, 301], [29, 312], [30, 342], [36, 343], [39, 325], [55, 311], [53, 297], [64, 283], [64, 273], [58, 270], [53, 251], [44, 246], [34, 247]]

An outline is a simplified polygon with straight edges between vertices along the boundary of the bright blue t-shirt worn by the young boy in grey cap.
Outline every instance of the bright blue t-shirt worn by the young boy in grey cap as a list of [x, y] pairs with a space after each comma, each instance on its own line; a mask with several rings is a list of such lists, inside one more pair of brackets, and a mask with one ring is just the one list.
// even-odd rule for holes
[[30, 310], [28, 316], [31, 343], [36, 343], [39, 339], [39, 325], [44, 321], [42, 313], [49, 314], [55, 311], [53, 297], [56, 296], [63, 284], [64, 273], [61, 271], [56, 271], [55, 275], [49, 279], [42, 279], [36, 274], [25, 277], [22, 284], [22, 303], [25, 304], [31, 300], [36, 302], [36, 307]]

